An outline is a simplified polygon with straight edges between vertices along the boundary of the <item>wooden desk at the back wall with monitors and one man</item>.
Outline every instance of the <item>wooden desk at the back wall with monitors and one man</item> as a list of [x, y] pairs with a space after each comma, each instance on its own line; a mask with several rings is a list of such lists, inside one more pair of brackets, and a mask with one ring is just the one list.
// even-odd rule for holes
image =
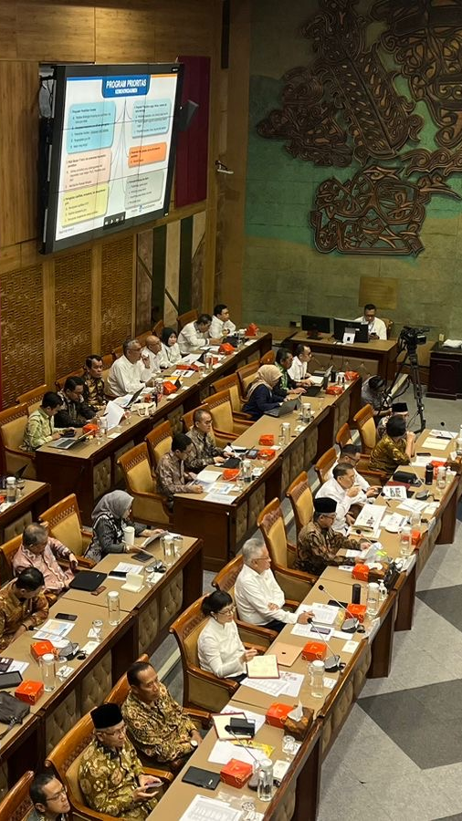
[[290, 339], [290, 344], [293, 350], [300, 342], [310, 345], [317, 368], [327, 368], [333, 361], [337, 370], [357, 370], [363, 375], [365, 360], [371, 376], [378, 374], [383, 379], [394, 378], [396, 339], [375, 339], [371, 342], [343, 345], [328, 334], [320, 334], [320, 337], [310, 339], [306, 331], [299, 331]]

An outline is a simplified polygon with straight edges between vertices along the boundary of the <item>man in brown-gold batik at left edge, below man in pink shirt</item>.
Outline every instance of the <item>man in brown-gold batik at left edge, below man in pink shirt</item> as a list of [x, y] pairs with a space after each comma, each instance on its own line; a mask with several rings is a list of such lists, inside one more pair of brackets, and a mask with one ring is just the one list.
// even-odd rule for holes
[[0, 590], [0, 650], [48, 616], [45, 579], [37, 567], [26, 567]]

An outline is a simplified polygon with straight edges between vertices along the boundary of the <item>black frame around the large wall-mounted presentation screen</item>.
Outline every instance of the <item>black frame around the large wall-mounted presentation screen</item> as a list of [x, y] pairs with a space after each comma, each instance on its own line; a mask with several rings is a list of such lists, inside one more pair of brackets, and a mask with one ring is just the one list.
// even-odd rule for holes
[[[77, 236], [69, 236], [62, 240], [56, 239], [56, 227], [58, 222], [58, 181], [61, 167], [61, 151], [64, 139], [64, 111], [66, 104], [66, 86], [68, 78], [72, 77], [93, 77], [121, 75], [121, 74], [167, 74], [174, 73], [177, 75], [175, 99], [173, 104], [173, 123], [172, 123], [172, 138], [170, 145], [169, 160], [167, 165], [167, 178], [165, 182], [165, 195], [163, 206], [156, 211], [141, 214], [138, 217], [131, 217], [123, 223], [114, 223], [113, 225], [93, 228], [90, 231], [85, 231]], [[50, 154], [48, 156], [48, 186], [47, 186], [47, 204], [44, 214], [43, 224], [43, 254], [53, 254], [57, 251], [65, 250], [67, 248], [83, 245], [96, 239], [110, 238], [114, 234], [120, 234], [122, 231], [130, 231], [137, 225], [144, 223], [152, 223], [157, 219], [166, 216], [169, 213], [170, 199], [172, 195], [173, 170], [174, 160], [176, 154], [176, 143], [178, 138], [178, 115], [181, 108], [183, 80], [184, 80], [184, 64], [183, 63], [130, 63], [130, 64], [68, 64], [57, 65], [54, 67], [55, 88], [53, 99], [53, 130], [52, 140], [50, 145]]]

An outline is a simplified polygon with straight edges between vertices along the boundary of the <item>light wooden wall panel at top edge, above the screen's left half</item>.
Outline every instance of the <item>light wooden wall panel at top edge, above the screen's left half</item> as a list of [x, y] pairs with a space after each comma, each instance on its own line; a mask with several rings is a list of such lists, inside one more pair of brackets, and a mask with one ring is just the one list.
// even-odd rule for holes
[[93, 3], [16, 3], [17, 56], [38, 62], [95, 59]]

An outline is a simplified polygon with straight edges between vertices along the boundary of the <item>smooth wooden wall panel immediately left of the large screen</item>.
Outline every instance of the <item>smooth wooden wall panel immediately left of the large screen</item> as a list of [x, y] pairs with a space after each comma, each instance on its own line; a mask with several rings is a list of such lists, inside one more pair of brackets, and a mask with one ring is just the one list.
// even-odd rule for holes
[[37, 63], [0, 61], [0, 246], [37, 236]]

